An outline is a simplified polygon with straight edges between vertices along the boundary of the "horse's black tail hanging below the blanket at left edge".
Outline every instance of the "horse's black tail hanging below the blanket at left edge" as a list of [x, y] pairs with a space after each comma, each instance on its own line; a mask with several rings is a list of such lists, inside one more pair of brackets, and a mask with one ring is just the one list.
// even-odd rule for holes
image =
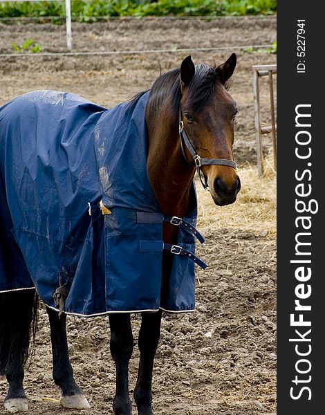
[[37, 310], [35, 290], [0, 293], [0, 376], [6, 374], [14, 348], [19, 348], [23, 365], [30, 353], [35, 353]]

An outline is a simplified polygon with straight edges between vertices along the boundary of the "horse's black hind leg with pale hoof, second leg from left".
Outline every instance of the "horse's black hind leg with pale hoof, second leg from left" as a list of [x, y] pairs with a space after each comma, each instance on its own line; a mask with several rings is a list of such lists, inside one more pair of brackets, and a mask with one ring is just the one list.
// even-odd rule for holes
[[73, 378], [73, 369], [68, 354], [66, 340], [66, 315], [60, 317], [57, 311], [46, 307], [50, 320], [50, 340], [53, 354], [53, 379], [62, 391], [60, 403], [63, 407], [73, 409], [89, 409], [84, 392]]

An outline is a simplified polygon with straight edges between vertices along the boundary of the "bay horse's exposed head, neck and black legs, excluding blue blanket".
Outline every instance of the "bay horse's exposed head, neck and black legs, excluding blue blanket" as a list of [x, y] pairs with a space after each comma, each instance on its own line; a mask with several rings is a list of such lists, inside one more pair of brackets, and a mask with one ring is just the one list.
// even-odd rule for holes
[[[167, 290], [173, 254], [182, 253], [177, 246], [180, 229], [177, 225], [195, 208], [194, 174], [198, 172], [201, 183], [210, 190], [214, 203], [219, 206], [234, 203], [241, 188], [232, 154], [234, 118], [238, 110], [228, 92], [235, 66], [234, 53], [219, 66], [194, 65], [188, 56], [180, 68], [160, 75], [149, 90], [145, 106], [147, 174], [161, 212], [171, 218], [163, 223], [163, 241], [171, 246], [171, 250], [163, 252], [162, 295]], [[140, 93], [133, 102], [142, 95]], [[24, 114], [19, 116], [24, 118]], [[6, 178], [3, 167], [0, 168], [1, 190]], [[0, 219], [1, 226], [3, 221], [11, 220], [8, 216]], [[196, 232], [193, 227], [191, 230]], [[0, 239], [2, 264], [6, 264], [6, 256], [11, 255], [11, 250], [19, 250], [17, 245], [13, 248], [8, 246], [7, 242], [12, 242], [10, 238]], [[195, 257], [191, 252], [187, 255]], [[0, 273], [20, 272], [17, 264], [10, 270], [4, 268], [1, 269], [0, 261]], [[33, 334], [35, 339], [37, 297], [34, 289], [0, 293], [0, 375], [6, 375], [9, 383], [4, 405], [10, 412], [28, 410], [23, 387], [24, 364]], [[68, 356], [66, 313], [62, 309], [60, 293], [58, 299], [59, 310], [46, 306], [53, 351], [53, 379], [61, 389], [62, 406], [87, 409], [89, 403], [75, 382]], [[154, 414], [151, 380], [161, 317], [162, 308], [159, 306], [156, 312], [142, 312], [138, 338], [140, 364], [133, 394], [139, 415]], [[113, 411], [116, 415], [130, 415], [128, 367], [133, 351], [130, 313], [109, 313], [109, 324], [110, 349], [116, 366]]]

